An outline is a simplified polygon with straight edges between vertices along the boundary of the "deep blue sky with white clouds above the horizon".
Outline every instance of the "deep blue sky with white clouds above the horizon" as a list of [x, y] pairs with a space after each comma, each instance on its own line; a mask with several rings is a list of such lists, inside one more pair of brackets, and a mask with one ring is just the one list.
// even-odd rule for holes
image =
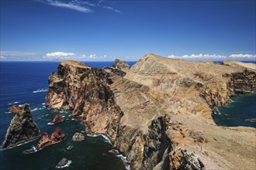
[[255, 60], [255, 1], [1, 0], [1, 60]]

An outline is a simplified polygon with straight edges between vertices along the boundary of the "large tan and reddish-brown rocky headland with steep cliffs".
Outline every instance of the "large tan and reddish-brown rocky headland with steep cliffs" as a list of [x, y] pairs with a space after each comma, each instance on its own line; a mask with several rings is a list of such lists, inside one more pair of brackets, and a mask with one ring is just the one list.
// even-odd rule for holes
[[255, 64], [234, 61], [147, 54], [119, 76], [68, 60], [49, 76], [46, 105], [108, 135], [132, 169], [253, 169], [255, 128], [219, 127], [212, 109], [254, 93], [255, 77]]

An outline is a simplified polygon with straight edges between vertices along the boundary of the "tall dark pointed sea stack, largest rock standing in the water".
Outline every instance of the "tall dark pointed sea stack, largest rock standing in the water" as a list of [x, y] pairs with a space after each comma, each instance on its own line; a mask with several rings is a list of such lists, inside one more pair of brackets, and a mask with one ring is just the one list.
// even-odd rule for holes
[[12, 148], [40, 137], [40, 130], [33, 121], [28, 104], [25, 104], [24, 107], [14, 106], [10, 110], [16, 115], [12, 118], [5, 134], [5, 141], [2, 143], [3, 149]]

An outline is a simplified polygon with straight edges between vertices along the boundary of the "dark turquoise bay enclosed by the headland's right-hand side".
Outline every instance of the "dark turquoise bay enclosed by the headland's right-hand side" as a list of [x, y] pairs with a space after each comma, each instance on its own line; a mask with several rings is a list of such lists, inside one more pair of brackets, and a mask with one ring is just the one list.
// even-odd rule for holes
[[233, 102], [225, 107], [218, 107], [221, 114], [213, 115], [217, 125], [234, 127], [246, 126], [256, 128], [256, 93], [240, 94], [232, 97]]

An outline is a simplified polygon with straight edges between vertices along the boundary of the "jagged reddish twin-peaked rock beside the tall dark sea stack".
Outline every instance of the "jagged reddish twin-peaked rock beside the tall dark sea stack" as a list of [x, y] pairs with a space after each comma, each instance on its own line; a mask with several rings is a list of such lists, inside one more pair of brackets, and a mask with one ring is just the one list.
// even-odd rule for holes
[[49, 134], [45, 131], [43, 133], [42, 138], [40, 139], [40, 141], [38, 142], [38, 144], [36, 145], [37, 149], [42, 149], [48, 145], [53, 145], [56, 144], [58, 142], [63, 141], [65, 138], [65, 134], [61, 131], [60, 128], [56, 128], [52, 134], [49, 136]]

